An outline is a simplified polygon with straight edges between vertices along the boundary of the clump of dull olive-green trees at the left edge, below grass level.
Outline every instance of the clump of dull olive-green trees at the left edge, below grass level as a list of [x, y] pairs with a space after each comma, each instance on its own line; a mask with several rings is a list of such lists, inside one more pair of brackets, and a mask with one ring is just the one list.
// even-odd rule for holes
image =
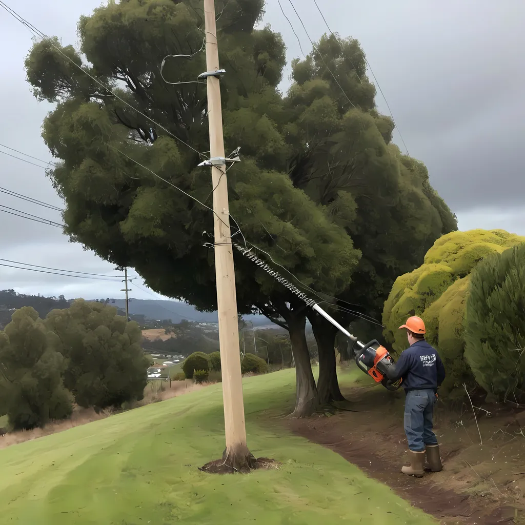
[[74, 404], [98, 412], [141, 400], [141, 336], [137, 323], [100, 302], [78, 299], [44, 319], [33, 307], [16, 310], [0, 332], [0, 414], [29, 429], [70, 416]]

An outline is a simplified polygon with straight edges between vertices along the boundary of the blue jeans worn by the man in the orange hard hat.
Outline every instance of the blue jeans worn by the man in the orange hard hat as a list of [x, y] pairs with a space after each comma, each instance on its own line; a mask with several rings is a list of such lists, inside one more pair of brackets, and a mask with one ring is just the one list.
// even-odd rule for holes
[[432, 432], [432, 413], [436, 402], [431, 388], [410, 390], [405, 399], [405, 434], [408, 448], [422, 452], [425, 445], [436, 445], [437, 438]]

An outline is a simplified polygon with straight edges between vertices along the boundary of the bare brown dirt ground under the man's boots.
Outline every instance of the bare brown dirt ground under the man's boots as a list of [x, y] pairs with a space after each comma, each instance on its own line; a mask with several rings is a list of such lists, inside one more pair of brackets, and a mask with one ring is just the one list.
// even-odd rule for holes
[[287, 424], [384, 482], [442, 523], [525, 523], [525, 436], [509, 430], [516, 414], [507, 411], [496, 417], [481, 417], [480, 432], [486, 442], [480, 446], [472, 412], [470, 421], [467, 412], [439, 407], [435, 429], [444, 469], [417, 479], [400, 471], [406, 464], [404, 395], [400, 394], [392, 395], [381, 388], [352, 388], [345, 395], [358, 412], [288, 420]]

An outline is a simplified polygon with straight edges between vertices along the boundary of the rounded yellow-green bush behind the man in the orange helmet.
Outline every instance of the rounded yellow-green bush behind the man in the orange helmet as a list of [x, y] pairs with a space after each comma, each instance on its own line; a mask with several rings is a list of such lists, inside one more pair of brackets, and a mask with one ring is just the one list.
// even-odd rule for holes
[[394, 282], [383, 310], [384, 337], [394, 351], [403, 351], [408, 342], [398, 327], [407, 317], [420, 316], [427, 328], [426, 339], [439, 351], [447, 370], [444, 392], [471, 377], [464, 359], [470, 271], [488, 255], [524, 241], [525, 237], [504, 230], [452, 232], [436, 240], [422, 266]]

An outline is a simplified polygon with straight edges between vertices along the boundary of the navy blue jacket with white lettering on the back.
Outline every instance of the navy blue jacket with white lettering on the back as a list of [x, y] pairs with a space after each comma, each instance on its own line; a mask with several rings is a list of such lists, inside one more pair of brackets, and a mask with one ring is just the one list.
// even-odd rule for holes
[[401, 352], [395, 364], [395, 371], [391, 369], [388, 372], [388, 379], [397, 380], [402, 377], [401, 386], [405, 391], [423, 390], [423, 388], [437, 390], [445, 379], [443, 361], [437, 351], [425, 340], [416, 341]]

